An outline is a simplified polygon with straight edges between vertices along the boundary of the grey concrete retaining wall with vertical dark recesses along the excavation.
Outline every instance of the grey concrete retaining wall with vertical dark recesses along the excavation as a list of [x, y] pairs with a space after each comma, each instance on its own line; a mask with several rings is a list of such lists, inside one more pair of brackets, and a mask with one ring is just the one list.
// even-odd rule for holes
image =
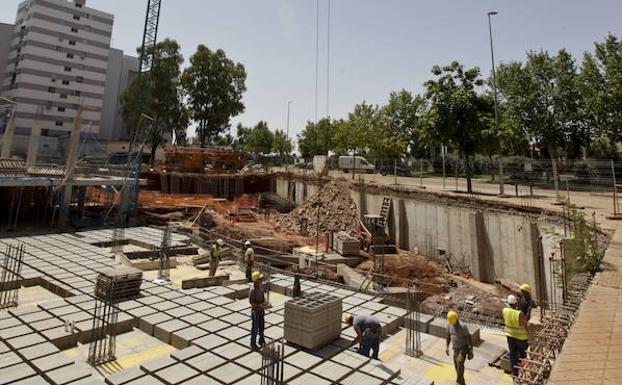
[[[295, 202], [300, 204], [317, 191], [317, 186], [304, 184], [301, 180], [278, 178], [277, 193], [287, 197], [288, 191], [294, 189]], [[384, 195], [360, 189], [350, 190], [350, 194], [360, 208], [359, 215], [380, 212]], [[551, 235], [554, 227], [532, 216], [450, 206], [404, 193], [394, 197], [388, 220], [389, 235], [399, 248], [416, 249], [428, 257], [443, 250], [453, 266], [467, 267], [476, 279], [488, 283], [501, 278], [526, 282], [538, 298], [546, 298], [550, 285], [544, 256], [555, 247], [551, 239], [556, 238]], [[541, 235], [545, 242], [541, 242]]]

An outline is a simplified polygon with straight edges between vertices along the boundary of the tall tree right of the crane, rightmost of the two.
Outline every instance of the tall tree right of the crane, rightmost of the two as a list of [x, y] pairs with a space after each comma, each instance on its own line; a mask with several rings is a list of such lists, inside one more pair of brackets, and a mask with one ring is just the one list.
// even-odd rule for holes
[[246, 70], [227, 58], [221, 49], [199, 45], [182, 76], [182, 84], [198, 122], [201, 147], [213, 142], [229, 126], [229, 120], [244, 112]]

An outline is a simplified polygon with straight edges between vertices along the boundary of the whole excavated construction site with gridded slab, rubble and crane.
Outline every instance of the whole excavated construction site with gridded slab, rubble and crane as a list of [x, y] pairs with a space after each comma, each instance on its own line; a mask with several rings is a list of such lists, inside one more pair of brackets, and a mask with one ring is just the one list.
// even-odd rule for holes
[[[143, 50], [160, 16], [148, 4]], [[37, 159], [36, 135], [15, 156], [11, 114], [2, 136], [0, 384], [449, 385], [451, 312], [468, 326], [468, 384], [622, 384], [616, 185], [464, 194], [216, 146], [145, 165], [140, 140], [127, 162], [97, 163], [80, 156], [87, 110], [64, 164]], [[504, 308], [524, 287], [529, 350], [512, 368]], [[356, 348], [362, 316], [380, 324], [377, 358]]]

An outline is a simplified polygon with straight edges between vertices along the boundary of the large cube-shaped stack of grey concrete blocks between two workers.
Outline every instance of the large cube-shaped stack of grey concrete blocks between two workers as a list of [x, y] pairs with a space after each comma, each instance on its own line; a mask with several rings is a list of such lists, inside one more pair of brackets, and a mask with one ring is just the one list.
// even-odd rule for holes
[[285, 339], [307, 349], [319, 349], [341, 334], [341, 298], [312, 293], [285, 303]]

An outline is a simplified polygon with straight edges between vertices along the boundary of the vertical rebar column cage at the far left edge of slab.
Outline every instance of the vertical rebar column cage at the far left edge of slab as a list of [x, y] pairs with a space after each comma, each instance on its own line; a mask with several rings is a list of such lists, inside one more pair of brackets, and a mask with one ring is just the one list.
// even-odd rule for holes
[[2, 263], [0, 282], [0, 310], [17, 307], [19, 288], [22, 286], [22, 266], [24, 264], [24, 245], [7, 245]]

